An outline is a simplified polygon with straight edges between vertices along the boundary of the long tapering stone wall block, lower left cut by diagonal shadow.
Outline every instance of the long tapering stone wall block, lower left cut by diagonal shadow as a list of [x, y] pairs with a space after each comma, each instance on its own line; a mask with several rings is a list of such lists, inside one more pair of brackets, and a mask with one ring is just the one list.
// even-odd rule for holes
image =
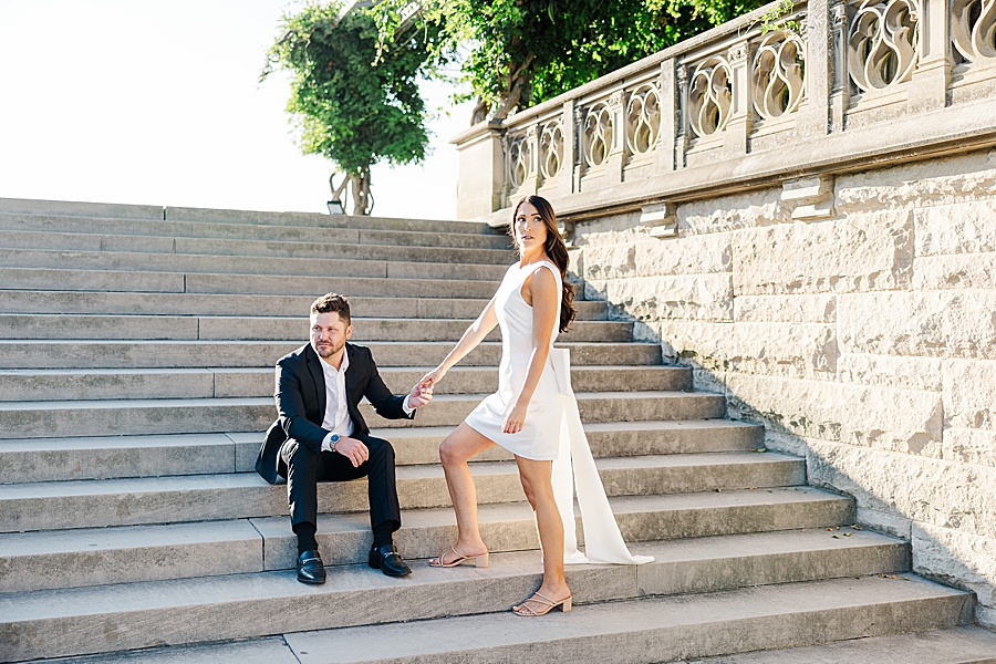
[[772, 430], [881, 450], [941, 456], [941, 395], [730, 373], [737, 407]]

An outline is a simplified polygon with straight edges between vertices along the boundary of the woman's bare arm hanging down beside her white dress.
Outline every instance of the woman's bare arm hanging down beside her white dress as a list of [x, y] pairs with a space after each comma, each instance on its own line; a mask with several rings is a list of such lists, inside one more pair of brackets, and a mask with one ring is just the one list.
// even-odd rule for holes
[[539, 385], [547, 357], [550, 354], [550, 340], [557, 324], [558, 302], [557, 278], [549, 269], [538, 269], [522, 286], [522, 297], [532, 304], [532, 354], [526, 369], [526, 382], [516, 397], [515, 405], [505, 418], [501, 430], [515, 434], [522, 430], [526, 422], [526, 409]]

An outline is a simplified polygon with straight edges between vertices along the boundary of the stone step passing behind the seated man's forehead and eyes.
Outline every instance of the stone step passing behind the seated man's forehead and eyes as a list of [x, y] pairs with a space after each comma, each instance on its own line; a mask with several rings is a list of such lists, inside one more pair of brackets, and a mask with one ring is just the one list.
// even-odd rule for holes
[[[473, 320], [364, 319], [353, 318], [354, 342], [452, 341], [457, 342]], [[287, 341], [308, 339], [307, 317], [124, 315], [63, 313], [0, 313], [0, 339], [86, 340], [246, 340]], [[492, 330], [487, 341], [500, 341]], [[625, 321], [575, 321], [558, 336], [561, 342], [633, 340], [633, 323]]]

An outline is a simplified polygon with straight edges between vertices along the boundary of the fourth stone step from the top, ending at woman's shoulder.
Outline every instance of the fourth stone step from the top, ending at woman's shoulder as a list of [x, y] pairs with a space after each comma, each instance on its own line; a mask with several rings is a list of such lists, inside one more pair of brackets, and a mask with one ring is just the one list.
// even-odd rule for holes
[[[512, 260], [509, 259], [508, 263]], [[501, 281], [507, 264], [455, 264], [349, 258], [267, 258], [122, 251], [2, 249], [6, 268], [72, 268], [143, 272], [211, 272], [225, 274], [292, 274], [300, 277], [371, 277], [386, 279], [466, 279]]]

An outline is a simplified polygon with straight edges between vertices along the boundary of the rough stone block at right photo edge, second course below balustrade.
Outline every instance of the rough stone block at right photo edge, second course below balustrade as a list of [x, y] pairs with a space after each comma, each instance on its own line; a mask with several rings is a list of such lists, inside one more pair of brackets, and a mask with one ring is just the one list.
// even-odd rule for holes
[[920, 207], [913, 220], [917, 257], [996, 251], [994, 199]]

